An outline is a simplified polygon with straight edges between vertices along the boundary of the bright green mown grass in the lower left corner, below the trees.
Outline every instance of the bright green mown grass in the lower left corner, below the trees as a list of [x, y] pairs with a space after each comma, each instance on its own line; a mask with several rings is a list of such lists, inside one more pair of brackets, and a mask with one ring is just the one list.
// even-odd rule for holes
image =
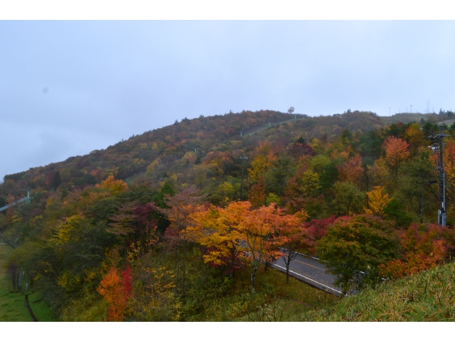
[[[9, 292], [9, 276], [6, 274], [4, 264], [10, 252], [11, 249], [6, 244], [0, 245], [0, 321], [31, 322], [23, 293]], [[55, 321], [48, 305], [41, 301], [41, 293], [31, 291], [28, 294], [28, 301], [38, 321]]]

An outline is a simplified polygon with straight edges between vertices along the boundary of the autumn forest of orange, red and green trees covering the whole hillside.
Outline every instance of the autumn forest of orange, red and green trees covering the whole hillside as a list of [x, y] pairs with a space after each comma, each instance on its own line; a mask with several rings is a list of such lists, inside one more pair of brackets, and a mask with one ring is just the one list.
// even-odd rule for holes
[[242, 274], [259, 295], [262, 262], [299, 250], [326, 259], [343, 293], [429, 269], [454, 248], [455, 124], [449, 227], [435, 224], [424, 138], [453, 116], [201, 115], [6, 175], [0, 206], [32, 196], [0, 214], [11, 281], [26, 271], [62, 320], [203, 320]]

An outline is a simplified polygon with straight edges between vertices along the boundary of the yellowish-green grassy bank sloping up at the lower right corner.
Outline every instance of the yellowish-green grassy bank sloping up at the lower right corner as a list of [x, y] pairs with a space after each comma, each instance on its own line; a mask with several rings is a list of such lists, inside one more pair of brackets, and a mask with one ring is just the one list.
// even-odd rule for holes
[[365, 290], [326, 310], [306, 315], [312, 321], [453, 321], [455, 265]]

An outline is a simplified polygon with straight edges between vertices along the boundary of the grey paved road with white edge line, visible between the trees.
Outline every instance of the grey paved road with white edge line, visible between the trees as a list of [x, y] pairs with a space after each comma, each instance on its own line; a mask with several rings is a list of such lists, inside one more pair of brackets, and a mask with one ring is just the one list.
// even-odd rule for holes
[[[286, 273], [286, 264], [282, 258], [277, 259], [272, 266]], [[289, 265], [289, 274], [323, 291], [333, 293], [336, 296], [341, 295], [341, 289], [333, 285], [336, 277], [326, 274], [326, 266], [313, 257], [297, 254]]]

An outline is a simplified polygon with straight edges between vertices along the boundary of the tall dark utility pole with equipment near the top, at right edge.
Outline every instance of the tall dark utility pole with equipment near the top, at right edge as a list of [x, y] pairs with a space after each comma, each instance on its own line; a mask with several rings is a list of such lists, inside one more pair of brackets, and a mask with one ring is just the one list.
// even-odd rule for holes
[[444, 173], [444, 137], [449, 136], [444, 134], [444, 124], [439, 124], [439, 134], [428, 136], [426, 139], [431, 141], [438, 141], [429, 148], [433, 153], [439, 152], [439, 158], [436, 160], [436, 171], [438, 173], [439, 185], [439, 210], [438, 210], [438, 224], [446, 226], [446, 173]]

